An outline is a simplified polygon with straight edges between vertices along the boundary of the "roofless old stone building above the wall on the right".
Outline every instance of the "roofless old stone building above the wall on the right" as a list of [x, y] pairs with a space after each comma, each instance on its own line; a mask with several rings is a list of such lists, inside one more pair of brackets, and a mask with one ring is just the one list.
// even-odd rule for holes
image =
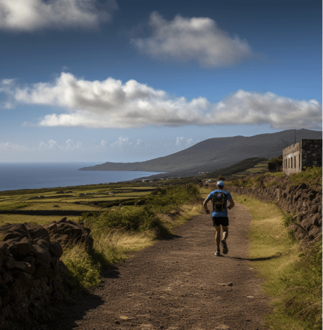
[[322, 139], [302, 139], [282, 149], [282, 170], [286, 175], [313, 165], [322, 166]]

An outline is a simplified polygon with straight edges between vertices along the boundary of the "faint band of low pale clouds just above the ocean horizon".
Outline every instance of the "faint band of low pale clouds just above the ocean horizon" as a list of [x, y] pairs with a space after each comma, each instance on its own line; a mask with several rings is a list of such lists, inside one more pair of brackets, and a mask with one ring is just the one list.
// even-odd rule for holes
[[75, 161], [75, 157], [80, 160], [86, 157], [87, 159], [102, 159], [102, 162], [106, 161], [107, 158], [110, 161], [124, 162], [125, 157], [127, 157], [129, 162], [133, 162], [134, 157], [137, 159], [141, 157], [140, 160], [152, 159], [161, 155], [176, 153], [196, 143], [192, 138], [186, 139], [185, 137], [155, 143], [151, 140], [130, 140], [129, 137], [122, 136], [118, 137], [117, 140], [86, 141], [85, 143], [75, 142], [71, 139], [67, 139], [65, 142], [56, 142], [56, 140], [51, 139], [47, 142], [36, 142], [34, 145], [29, 146], [26, 146], [23, 142], [22, 144], [0, 142], [0, 152], [2, 160], [10, 159], [12, 155], [18, 155], [20, 161], [31, 158], [35, 160], [39, 156], [40, 159], [43, 159], [46, 155], [47, 161], [61, 159]]

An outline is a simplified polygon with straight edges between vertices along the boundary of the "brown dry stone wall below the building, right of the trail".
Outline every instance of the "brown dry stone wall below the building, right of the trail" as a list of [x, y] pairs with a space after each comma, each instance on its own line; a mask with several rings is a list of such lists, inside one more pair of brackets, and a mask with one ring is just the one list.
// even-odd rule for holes
[[249, 195], [264, 201], [274, 201], [287, 212], [296, 211], [296, 223], [291, 229], [298, 239], [311, 240], [322, 234], [322, 191], [315, 191], [306, 184], [288, 188], [243, 188], [228, 186], [230, 193]]

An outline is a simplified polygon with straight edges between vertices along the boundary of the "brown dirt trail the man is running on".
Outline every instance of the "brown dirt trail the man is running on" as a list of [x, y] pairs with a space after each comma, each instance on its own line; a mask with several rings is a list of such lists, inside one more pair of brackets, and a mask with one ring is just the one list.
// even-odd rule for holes
[[246, 259], [251, 215], [236, 203], [229, 219], [226, 256], [214, 256], [212, 220], [201, 214], [104, 272], [100, 287], [50, 329], [267, 329], [269, 300]]

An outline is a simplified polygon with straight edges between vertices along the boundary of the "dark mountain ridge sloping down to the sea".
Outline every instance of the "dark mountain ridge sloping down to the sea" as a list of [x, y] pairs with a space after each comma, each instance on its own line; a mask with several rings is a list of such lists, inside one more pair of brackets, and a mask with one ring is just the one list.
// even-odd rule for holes
[[157, 157], [144, 162], [105, 162], [79, 170], [133, 170], [157, 173], [181, 173], [196, 175], [199, 171], [210, 171], [231, 166], [249, 157], [277, 157], [282, 148], [305, 139], [322, 139], [322, 131], [289, 129], [276, 133], [264, 133], [245, 137], [212, 137], [177, 153]]

